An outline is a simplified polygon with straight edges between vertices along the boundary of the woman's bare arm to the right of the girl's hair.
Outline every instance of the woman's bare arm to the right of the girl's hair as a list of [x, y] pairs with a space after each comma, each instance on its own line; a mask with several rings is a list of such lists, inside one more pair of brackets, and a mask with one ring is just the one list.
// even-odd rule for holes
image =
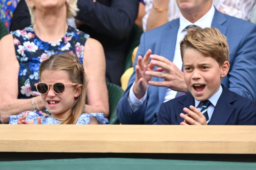
[[83, 66], [88, 77], [86, 87], [86, 113], [105, 113], [109, 115], [109, 99], [106, 86], [106, 61], [104, 50], [99, 41], [89, 38], [86, 40], [83, 54]]

